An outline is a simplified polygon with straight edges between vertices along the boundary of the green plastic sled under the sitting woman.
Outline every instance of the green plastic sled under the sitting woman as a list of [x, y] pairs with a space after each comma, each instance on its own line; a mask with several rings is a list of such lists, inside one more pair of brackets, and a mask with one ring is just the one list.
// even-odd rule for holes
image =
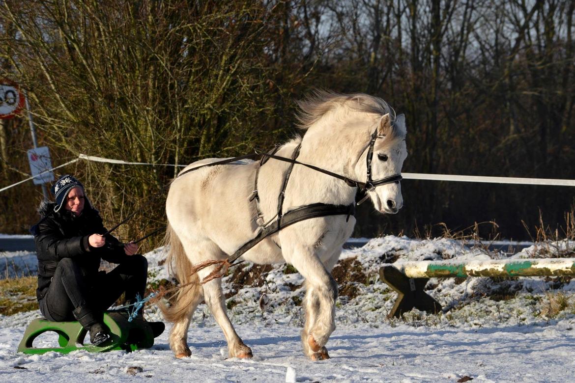
[[[148, 349], [154, 346], [154, 334], [150, 326], [142, 319], [128, 322], [128, 315], [117, 311], [104, 313], [104, 324], [110, 329], [110, 339], [100, 346], [91, 346], [86, 330], [78, 322], [50, 322], [46, 319], [34, 319], [26, 327], [24, 337], [18, 346], [18, 352], [24, 354], [44, 354], [48, 351], [71, 353], [86, 350], [91, 353], [125, 350]], [[32, 343], [44, 332], [53, 331], [59, 335], [60, 347], [33, 347]], [[84, 345], [84, 338], [88, 345]]]

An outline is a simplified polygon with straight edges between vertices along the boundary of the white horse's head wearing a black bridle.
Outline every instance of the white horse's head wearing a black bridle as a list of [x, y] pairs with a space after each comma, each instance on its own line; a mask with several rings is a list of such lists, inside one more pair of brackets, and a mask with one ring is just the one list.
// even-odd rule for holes
[[[358, 161], [356, 165], [356, 172], [361, 175], [363, 171], [367, 183], [373, 180], [375, 187], [367, 189], [367, 195], [375, 208], [381, 213], [396, 214], [403, 206], [401, 184], [399, 181], [393, 181], [378, 185], [378, 180], [401, 174], [401, 167], [407, 158], [405, 118], [399, 115], [392, 121], [390, 115], [385, 114], [379, 119], [376, 131], [372, 137], [372, 140], [375, 138], [375, 142], [371, 161], [368, 146], [365, 156], [362, 156], [364, 161]], [[366, 169], [366, 165], [369, 169]]]

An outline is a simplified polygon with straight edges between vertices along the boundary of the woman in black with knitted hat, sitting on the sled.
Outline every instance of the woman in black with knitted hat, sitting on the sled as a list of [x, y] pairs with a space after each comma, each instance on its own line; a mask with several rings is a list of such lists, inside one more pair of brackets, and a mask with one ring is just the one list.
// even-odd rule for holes
[[[101, 345], [110, 338], [104, 311], [123, 292], [126, 304], [144, 296], [148, 261], [136, 254], [135, 243], [106, 234], [80, 181], [64, 175], [52, 194], [56, 202], [40, 204], [40, 222], [30, 229], [38, 256], [40, 311], [48, 320], [78, 320], [90, 332], [90, 342]], [[108, 273], [98, 271], [101, 259], [119, 265]], [[162, 322], [148, 324], [154, 336], [164, 330]]]

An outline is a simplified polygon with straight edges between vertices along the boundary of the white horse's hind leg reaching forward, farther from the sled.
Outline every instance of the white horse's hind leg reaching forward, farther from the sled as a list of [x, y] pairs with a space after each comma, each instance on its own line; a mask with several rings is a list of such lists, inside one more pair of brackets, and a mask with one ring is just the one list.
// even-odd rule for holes
[[[200, 270], [198, 274], [202, 280], [214, 270], [214, 266]], [[252, 351], [246, 346], [241, 338], [237, 335], [228, 318], [225, 307], [224, 294], [221, 289], [221, 278], [216, 278], [204, 284], [204, 299], [210, 312], [224, 331], [225, 340], [228, 343], [228, 355], [230, 358], [251, 358]]]

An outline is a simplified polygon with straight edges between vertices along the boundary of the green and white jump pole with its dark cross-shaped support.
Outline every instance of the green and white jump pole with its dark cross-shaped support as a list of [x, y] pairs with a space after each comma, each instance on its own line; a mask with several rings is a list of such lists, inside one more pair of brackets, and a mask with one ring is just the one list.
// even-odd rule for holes
[[423, 291], [429, 278], [575, 276], [575, 258], [396, 262], [382, 266], [379, 276], [398, 293], [388, 317], [400, 318], [413, 307], [434, 314], [442, 310], [439, 302]]

